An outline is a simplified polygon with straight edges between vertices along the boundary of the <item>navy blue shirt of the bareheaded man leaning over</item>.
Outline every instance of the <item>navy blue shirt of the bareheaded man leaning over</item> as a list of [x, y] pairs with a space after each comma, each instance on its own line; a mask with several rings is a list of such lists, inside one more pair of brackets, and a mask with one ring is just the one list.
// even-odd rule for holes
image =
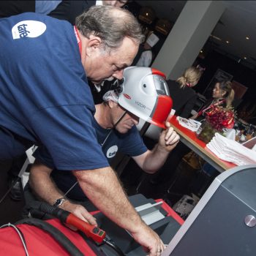
[[108, 166], [73, 26], [27, 12], [0, 19], [0, 31], [0, 126], [43, 144], [58, 169]]

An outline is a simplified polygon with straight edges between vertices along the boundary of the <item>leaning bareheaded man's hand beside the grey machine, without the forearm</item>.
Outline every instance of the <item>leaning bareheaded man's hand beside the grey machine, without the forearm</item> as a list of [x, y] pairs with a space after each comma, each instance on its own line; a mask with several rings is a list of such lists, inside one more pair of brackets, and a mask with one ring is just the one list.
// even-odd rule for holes
[[165, 249], [165, 245], [157, 233], [147, 225], [143, 229], [140, 229], [140, 232], [132, 233], [132, 236], [135, 238], [135, 241], [138, 241], [143, 246], [149, 256], [161, 255]]

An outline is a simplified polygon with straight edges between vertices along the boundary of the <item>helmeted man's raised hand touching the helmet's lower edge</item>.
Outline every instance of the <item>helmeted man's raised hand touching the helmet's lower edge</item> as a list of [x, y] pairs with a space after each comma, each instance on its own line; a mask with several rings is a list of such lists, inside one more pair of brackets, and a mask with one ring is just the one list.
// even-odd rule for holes
[[170, 123], [166, 122], [167, 129], [163, 130], [159, 136], [159, 146], [166, 151], [172, 151], [176, 147], [179, 141], [178, 134], [174, 131], [173, 127], [170, 127]]

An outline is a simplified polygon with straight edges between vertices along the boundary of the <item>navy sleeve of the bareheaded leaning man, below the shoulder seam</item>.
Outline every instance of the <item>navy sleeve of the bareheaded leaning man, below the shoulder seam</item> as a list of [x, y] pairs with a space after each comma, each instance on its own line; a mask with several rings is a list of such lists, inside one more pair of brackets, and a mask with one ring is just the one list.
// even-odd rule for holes
[[107, 167], [97, 143], [92, 113], [85, 105], [46, 108], [31, 118], [31, 124], [59, 170], [91, 170]]

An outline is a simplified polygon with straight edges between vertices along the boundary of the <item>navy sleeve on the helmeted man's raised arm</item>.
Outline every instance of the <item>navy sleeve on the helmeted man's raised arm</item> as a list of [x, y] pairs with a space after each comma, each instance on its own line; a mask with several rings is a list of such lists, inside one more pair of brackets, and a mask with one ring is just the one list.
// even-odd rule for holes
[[148, 148], [143, 143], [138, 129], [132, 127], [122, 140], [120, 151], [130, 157], [137, 157], [144, 154], [147, 150]]

